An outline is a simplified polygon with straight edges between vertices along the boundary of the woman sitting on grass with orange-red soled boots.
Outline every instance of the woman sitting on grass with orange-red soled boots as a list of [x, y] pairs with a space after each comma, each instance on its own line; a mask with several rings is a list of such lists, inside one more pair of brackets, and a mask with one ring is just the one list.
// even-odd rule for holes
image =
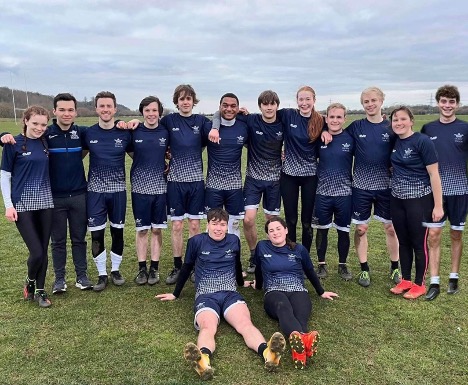
[[317, 352], [319, 339], [317, 331], [307, 332], [312, 302], [304, 286], [304, 273], [322, 298], [333, 300], [338, 294], [323, 289], [309, 253], [301, 244], [290, 241], [282, 218], [268, 220], [265, 232], [268, 240], [258, 242], [255, 250], [253, 287], [265, 290], [265, 311], [289, 336], [294, 366], [303, 369], [307, 357]]

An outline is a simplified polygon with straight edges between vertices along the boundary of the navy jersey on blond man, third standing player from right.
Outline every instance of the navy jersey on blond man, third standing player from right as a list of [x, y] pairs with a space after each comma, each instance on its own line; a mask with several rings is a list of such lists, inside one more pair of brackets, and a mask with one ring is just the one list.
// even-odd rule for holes
[[353, 187], [385, 190], [390, 187], [390, 154], [395, 134], [388, 120], [371, 123], [367, 119], [352, 122], [346, 129], [354, 138]]

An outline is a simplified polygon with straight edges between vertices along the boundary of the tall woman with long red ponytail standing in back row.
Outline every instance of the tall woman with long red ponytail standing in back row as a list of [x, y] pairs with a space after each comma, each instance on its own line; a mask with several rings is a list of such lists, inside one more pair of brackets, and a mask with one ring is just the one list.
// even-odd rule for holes
[[280, 178], [284, 215], [289, 237], [296, 241], [299, 190], [301, 192], [302, 244], [310, 251], [312, 245], [312, 213], [317, 189], [317, 151], [324, 118], [315, 111], [315, 91], [309, 86], [299, 88], [297, 109], [278, 111], [284, 131], [284, 162]]

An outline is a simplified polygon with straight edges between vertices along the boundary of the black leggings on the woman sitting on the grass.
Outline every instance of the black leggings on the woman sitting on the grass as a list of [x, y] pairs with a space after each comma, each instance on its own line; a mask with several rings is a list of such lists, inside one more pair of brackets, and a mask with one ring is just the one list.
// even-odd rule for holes
[[270, 291], [263, 300], [265, 312], [278, 320], [285, 336], [293, 331], [307, 333], [312, 302], [307, 291]]

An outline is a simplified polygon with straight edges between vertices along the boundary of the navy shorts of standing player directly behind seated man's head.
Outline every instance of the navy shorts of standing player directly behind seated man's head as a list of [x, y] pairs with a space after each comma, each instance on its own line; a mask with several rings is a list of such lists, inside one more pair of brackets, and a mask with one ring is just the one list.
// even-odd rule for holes
[[218, 190], [207, 187], [205, 190], [205, 210], [224, 208], [236, 219], [244, 218], [244, 196], [242, 189]]

